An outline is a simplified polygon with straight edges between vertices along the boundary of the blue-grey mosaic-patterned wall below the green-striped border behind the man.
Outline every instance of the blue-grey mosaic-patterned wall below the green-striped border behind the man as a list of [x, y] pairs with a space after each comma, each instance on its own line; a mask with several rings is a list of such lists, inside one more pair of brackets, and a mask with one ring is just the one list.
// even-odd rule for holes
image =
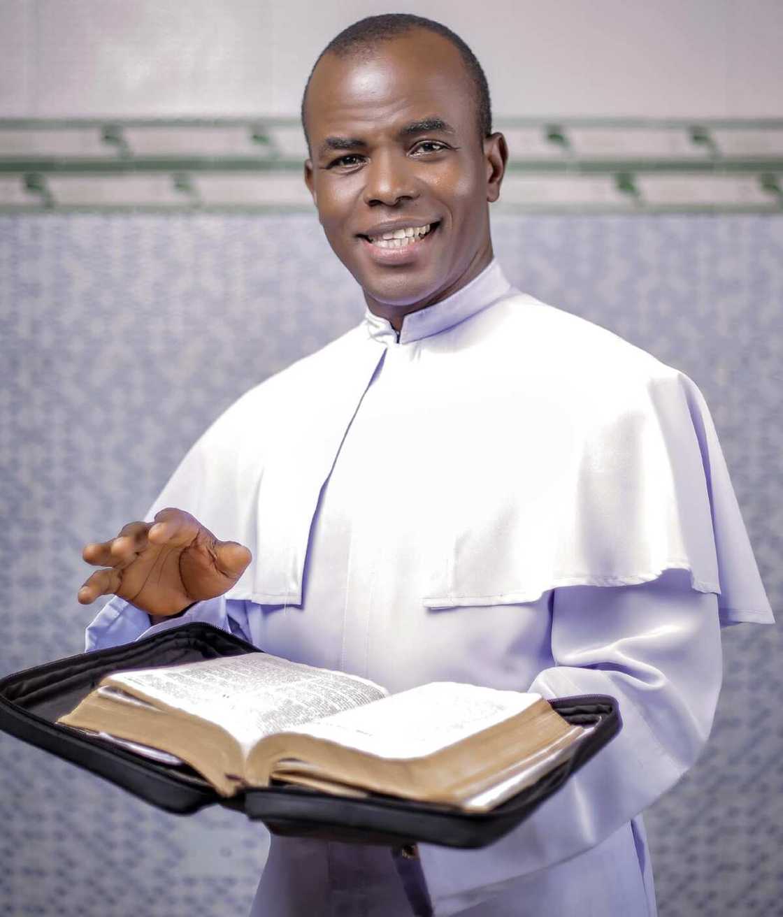
[[[700, 385], [780, 609], [783, 217], [493, 226], [523, 290]], [[143, 514], [216, 414], [362, 308], [311, 216], [0, 217], [0, 674], [82, 649], [83, 543]], [[647, 816], [662, 917], [783, 914], [780, 643], [777, 626], [725, 633], [710, 745]], [[261, 827], [157, 812], [5, 735], [0, 767], [0, 911], [247, 912]]]

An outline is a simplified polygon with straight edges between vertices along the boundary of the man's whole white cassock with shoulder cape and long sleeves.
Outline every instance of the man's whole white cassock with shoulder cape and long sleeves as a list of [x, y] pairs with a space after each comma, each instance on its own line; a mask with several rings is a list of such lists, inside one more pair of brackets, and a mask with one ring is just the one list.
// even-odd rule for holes
[[[420, 846], [436, 914], [650, 917], [640, 812], [694, 763], [720, 625], [772, 623], [709, 409], [687, 376], [519, 293], [497, 262], [252, 389], [148, 518], [253, 562], [149, 628], [112, 600], [87, 648], [188, 620], [391, 691], [434, 680], [611, 694], [623, 731], [511, 834]], [[273, 838], [254, 915], [410, 913], [388, 849]]]

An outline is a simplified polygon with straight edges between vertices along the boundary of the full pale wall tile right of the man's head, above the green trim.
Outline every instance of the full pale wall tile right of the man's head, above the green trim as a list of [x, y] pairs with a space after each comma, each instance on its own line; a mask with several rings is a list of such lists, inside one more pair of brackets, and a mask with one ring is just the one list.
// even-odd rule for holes
[[485, 54], [495, 109], [722, 116], [726, 3], [502, 0], [502, 17], [488, 23]]

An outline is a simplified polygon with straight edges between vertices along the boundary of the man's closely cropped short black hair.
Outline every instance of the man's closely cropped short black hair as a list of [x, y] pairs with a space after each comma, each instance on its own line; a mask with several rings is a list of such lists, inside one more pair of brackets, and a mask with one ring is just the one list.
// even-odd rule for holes
[[307, 90], [310, 88], [315, 68], [318, 66], [321, 58], [323, 58], [325, 54], [336, 54], [337, 57], [347, 57], [348, 54], [357, 53], [362, 50], [371, 50], [381, 41], [396, 39], [401, 35], [414, 31], [416, 28], [423, 28], [428, 32], [435, 32], [436, 35], [443, 36], [443, 38], [450, 41], [459, 51], [459, 55], [465, 64], [465, 69], [473, 83], [480, 137], [485, 138], [490, 136], [492, 132], [490, 87], [476, 55], [469, 49], [468, 45], [460, 39], [455, 32], [452, 32], [450, 28], [447, 28], [447, 26], [444, 26], [440, 22], [436, 22], [434, 19], [425, 19], [423, 16], [414, 16], [412, 13], [384, 13], [381, 16], [369, 16], [364, 19], [359, 19], [358, 22], [355, 22], [352, 26], [344, 28], [318, 55], [313, 64], [313, 69], [307, 77], [307, 83], [304, 86], [300, 111], [304, 137], [307, 138], [308, 146], [310, 144], [310, 138], [307, 137], [307, 126], [304, 123], [304, 105], [307, 101]]

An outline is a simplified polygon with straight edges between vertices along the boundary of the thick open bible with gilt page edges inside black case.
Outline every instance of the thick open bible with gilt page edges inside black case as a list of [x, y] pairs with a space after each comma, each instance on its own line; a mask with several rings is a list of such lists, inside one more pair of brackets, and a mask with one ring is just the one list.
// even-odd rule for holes
[[488, 812], [570, 757], [589, 728], [538, 694], [367, 679], [266, 653], [119, 671], [59, 723], [184, 763], [224, 797], [278, 782]]

